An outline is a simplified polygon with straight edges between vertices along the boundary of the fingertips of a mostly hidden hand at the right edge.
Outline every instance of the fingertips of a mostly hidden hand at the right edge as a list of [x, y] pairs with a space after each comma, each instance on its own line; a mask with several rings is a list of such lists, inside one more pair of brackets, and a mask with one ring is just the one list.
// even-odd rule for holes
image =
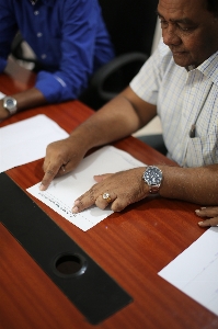
[[195, 211], [196, 215], [202, 217], [204, 222], [199, 222], [200, 227], [218, 226], [218, 206], [217, 207], [202, 207]]

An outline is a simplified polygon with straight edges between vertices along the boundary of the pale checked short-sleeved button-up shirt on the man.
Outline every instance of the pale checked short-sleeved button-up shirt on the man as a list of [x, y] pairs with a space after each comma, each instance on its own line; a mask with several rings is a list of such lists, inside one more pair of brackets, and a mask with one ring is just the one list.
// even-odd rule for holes
[[130, 87], [157, 105], [171, 159], [183, 167], [218, 163], [218, 52], [186, 70], [161, 41]]

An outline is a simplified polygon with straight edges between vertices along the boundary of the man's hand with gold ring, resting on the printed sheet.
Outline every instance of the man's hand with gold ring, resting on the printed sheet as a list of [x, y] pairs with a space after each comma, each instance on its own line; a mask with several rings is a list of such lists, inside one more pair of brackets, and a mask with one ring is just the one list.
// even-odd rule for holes
[[95, 175], [97, 182], [88, 192], [74, 201], [72, 213], [96, 205], [104, 209], [111, 204], [111, 209], [121, 212], [126, 206], [148, 196], [149, 188], [142, 180], [145, 168], [135, 168], [116, 173]]

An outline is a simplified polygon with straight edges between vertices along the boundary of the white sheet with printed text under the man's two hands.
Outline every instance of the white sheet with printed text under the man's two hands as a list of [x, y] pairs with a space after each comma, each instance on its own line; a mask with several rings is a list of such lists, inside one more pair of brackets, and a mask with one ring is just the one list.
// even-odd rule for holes
[[110, 208], [101, 211], [92, 206], [79, 214], [72, 214], [73, 202], [95, 183], [93, 175], [140, 166], [145, 164], [129, 154], [113, 146], [105, 146], [84, 158], [72, 172], [55, 179], [47, 191], [39, 191], [41, 183], [26, 191], [85, 231], [113, 213]]

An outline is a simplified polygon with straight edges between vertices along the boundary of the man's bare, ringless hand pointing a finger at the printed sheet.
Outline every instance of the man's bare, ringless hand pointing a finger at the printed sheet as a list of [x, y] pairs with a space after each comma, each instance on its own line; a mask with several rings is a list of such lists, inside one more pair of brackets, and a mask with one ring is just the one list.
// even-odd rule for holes
[[64, 175], [73, 170], [84, 157], [85, 151], [81, 145], [68, 137], [54, 141], [46, 148], [44, 160], [44, 178], [41, 183], [41, 191], [45, 191], [55, 177]]

